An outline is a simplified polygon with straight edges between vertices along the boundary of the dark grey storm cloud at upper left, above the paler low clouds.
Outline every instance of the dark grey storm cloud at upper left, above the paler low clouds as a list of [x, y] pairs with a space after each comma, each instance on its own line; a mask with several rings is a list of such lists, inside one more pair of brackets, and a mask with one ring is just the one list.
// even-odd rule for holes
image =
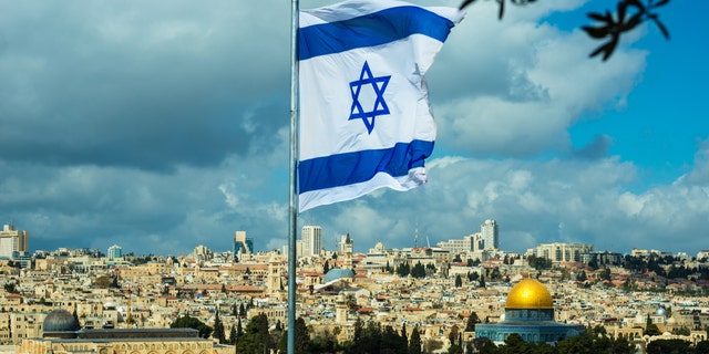
[[238, 25], [257, 9], [22, 6], [0, 25], [0, 158], [213, 166], [286, 122], [268, 114], [242, 123], [288, 110], [287, 35], [266, 45]]

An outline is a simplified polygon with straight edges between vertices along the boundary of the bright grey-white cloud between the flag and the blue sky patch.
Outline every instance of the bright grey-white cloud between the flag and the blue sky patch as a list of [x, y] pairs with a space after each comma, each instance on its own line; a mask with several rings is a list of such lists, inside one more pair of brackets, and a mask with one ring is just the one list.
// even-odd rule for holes
[[567, 129], [583, 113], [624, 107], [646, 53], [620, 46], [612, 61], [589, 60], [597, 43], [580, 30], [538, 23], [568, 3], [514, 9], [502, 21], [491, 4], [472, 7], [429, 75], [438, 143], [474, 156], [569, 152]]

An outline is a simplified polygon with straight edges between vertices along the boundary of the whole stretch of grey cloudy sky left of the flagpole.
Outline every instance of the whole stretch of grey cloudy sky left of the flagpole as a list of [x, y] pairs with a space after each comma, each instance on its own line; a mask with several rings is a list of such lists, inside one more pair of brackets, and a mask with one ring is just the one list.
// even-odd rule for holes
[[269, 1], [0, 2], [0, 218], [32, 249], [184, 253], [264, 233], [280, 217], [264, 196], [287, 190], [288, 15]]

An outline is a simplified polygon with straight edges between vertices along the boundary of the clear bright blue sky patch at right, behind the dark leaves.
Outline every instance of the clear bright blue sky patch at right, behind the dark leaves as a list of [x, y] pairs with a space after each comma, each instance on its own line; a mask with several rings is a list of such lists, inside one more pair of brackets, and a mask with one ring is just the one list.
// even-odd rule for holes
[[[604, 6], [608, 3], [592, 1], [574, 12], [554, 13], [546, 21], [571, 31], [590, 24], [586, 12], [603, 11]], [[699, 144], [709, 138], [709, 110], [705, 104], [709, 22], [702, 18], [708, 10], [709, 2], [681, 0], [659, 9], [660, 20], [670, 32], [669, 41], [648, 23], [635, 43], [624, 43], [648, 52], [646, 70], [628, 95], [627, 105], [602, 115], [586, 114], [569, 129], [577, 148], [598, 135], [610, 136], [609, 155], [639, 168], [638, 189], [669, 184], [688, 173]], [[602, 42], [589, 43], [590, 52]]]

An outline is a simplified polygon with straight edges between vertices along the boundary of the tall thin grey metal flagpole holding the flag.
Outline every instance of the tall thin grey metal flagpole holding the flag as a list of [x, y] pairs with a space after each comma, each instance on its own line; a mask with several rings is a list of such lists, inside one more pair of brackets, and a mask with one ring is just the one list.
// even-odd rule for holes
[[290, 178], [288, 202], [288, 354], [296, 353], [296, 235], [298, 233], [298, 15], [299, 0], [290, 2]]

